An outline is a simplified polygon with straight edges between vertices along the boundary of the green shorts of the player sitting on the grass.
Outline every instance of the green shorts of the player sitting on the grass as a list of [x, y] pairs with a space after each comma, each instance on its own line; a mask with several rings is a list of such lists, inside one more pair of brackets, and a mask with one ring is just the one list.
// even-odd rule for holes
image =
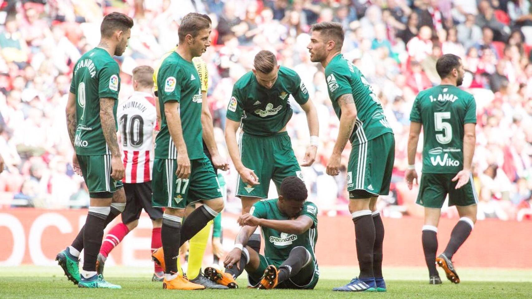
[[[248, 272], [247, 276], [251, 285], [255, 286], [260, 283], [264, 270], [268, 266], [273, 265], [279, 268], [283, 261], [272, 260], [259, 254], [259, 268], [253, 272]], [[312, 261], [305, 267], [301, 268], [301, 271], [294, 277], [282, 281], [276, 288], [293, 288], [293, 289], [313, 289], [318, 283], [320, 277], [320, 271], [316, 261]]]

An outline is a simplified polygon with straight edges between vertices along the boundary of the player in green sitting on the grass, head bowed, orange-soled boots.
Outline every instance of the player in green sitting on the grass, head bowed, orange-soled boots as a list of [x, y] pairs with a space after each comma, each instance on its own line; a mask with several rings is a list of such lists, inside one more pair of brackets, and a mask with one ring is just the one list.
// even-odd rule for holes
[[[235, 279], [245, 269], [250, 283], [260, 289], [313, 289], [320, 274], [314, 255], [318, 208], [306, 198], [306, 187], [300, 178], [285, 178], [278, 199], [259, 201], [250, 213], [238, 219], [243, 228], [224, 261], [225, 272], [206, 268], [205, 276], [236, 288]], [[262, 228], [265, 240], [264, 255], [247, 246], [257, 226]]]

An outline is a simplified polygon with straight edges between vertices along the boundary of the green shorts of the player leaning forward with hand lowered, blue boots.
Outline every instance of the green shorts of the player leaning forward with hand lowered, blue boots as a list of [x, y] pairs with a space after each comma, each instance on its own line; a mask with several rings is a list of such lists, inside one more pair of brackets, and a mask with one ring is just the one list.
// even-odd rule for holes
[[388, 195], [395, 160], [393, 133], [353, 146], [347, 164], [350, 199]]

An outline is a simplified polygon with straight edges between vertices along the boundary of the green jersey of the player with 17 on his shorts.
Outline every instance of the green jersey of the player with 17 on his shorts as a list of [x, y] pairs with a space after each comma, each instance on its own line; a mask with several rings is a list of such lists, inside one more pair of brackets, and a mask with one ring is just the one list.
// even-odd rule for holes
[[164, 103], [179, 102], [181, 129], [190, 160], [203, 157], [201, 126], [201, 80], [194, 63], [172, 52], [161, 64], [157, 74], [157, 93], [161, 109], [161, 130], [155, 138], [155, 158], [177, 159], [177, 148], [168, 130]]

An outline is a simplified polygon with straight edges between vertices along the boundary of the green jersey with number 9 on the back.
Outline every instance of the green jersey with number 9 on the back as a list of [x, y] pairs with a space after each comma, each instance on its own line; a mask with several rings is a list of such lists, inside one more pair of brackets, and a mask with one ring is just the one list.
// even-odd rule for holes
[[70, 84], [70, 92], [76, 95], [76, 119], [78, 127], [74, 148], [78, 155], [95, 156], [111, 154], [100, 121], [101, 98], [115, 99], [113, 114], [115, 130], [118, 130], [117, 107], [120, 91], [120, 68], [113, 57], [102, 48], [94, 48], [79, 58]]

